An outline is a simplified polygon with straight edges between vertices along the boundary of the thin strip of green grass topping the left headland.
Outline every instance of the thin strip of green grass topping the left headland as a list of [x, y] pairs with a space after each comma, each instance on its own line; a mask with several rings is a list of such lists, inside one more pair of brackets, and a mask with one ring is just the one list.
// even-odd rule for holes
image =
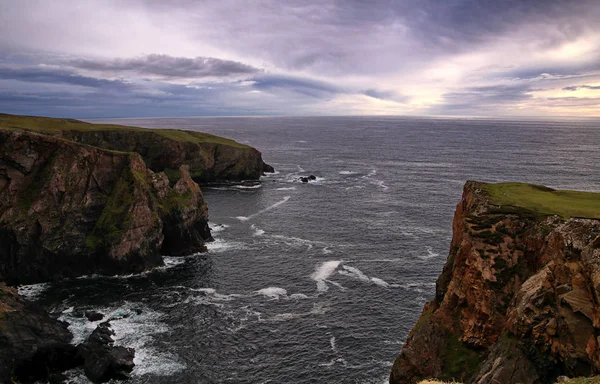
[[222, 144], [236, 148], [249, 148], [247, 145], [240, 144], [237, 141], [226, 139], [224, 137], [210, 135], [203, 132], [184, 131], [180, 129], [153, 129], [140, 128], [127, 125], [114, 124], [92, 124], [74, 119], [57, 119], [38, 116], [19, 116], [0, 113], [0, 129], [21, 129], [58, 135], [65, 131], [77, 132], [100, 132], [100, 131], [131, 131], [131, 132], [150, 132], [166, 139], [186, 142], [186, 143], [208, 143]]

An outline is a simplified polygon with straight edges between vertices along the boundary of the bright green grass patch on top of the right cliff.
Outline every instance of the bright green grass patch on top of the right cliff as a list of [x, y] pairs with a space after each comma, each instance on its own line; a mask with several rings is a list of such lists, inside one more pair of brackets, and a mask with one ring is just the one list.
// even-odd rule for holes
[[505, 213], [600, 219], [600, 193], [559, 191], [526, 183], [485, 184], [483, 191], [490, 203]]

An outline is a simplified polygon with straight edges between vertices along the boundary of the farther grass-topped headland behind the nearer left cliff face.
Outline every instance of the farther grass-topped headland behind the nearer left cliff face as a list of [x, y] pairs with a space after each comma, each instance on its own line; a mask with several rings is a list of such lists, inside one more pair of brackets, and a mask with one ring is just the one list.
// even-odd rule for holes
[[200, 183], [258, 180], [263, 172], [274, 171], [263, 162], [261, 153], [255, 148], [196, 131], [6, 114], [0, 114], [0, 128], [33, 131], [95, 147], [136, 152], [148, 168], [165, 172], [172, 183], [179, 179], [182, 165], [189, 166], [191, 177]]

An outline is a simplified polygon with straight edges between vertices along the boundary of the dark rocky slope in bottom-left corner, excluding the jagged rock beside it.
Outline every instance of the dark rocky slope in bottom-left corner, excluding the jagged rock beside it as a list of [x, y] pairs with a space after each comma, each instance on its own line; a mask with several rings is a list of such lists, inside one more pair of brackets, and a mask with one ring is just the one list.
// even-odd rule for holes
[[33, 383], [81, 364], [67, 324], [0, 284], [0, 383]]

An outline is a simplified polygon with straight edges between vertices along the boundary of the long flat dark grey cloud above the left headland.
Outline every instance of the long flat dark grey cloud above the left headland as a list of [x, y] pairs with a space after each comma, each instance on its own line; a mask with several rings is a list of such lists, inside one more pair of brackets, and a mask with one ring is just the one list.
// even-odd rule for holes
[[76, 59], [66, 63], [78, 69], [100, 72], [129, 72], [157, 75], [163, 78], [206, 78], [251, 75], [262, 72], [248, 64], [213, 57], [173, 57], [151, 54], [143, 57], [113, 60]]

